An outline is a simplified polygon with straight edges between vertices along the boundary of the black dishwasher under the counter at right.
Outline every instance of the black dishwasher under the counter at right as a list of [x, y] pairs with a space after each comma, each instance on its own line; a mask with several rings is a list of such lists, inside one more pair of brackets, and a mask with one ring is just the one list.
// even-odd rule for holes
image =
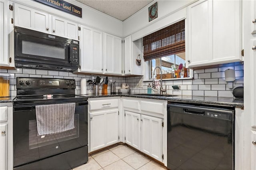
[[234, 169], [234, 107], [167, 105], [167, 167]]

